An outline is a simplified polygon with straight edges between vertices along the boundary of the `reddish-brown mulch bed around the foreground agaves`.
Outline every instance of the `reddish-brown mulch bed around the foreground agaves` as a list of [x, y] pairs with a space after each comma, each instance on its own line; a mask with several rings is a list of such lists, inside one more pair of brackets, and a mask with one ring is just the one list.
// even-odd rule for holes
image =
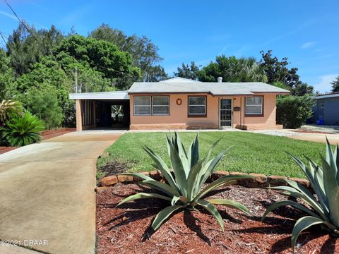
[[[261, 223], [266, 207], [286, 197], [262, 188], [225, 186], [213, 198], [242, 202], [253, 215], [218, 206], [225, 222], [222, 232], [203, 210], [179, 212], [153, 232], [150, 224], [166, 202], [144, 199], [115, 208], [122, 198], [141, 190], [136, 184], [118, 183], [97, 193], [97, 253], [291, 253], [292, 227], [304, 215], [283, 207]], [[300, 235], [295, 253], [339, 253], [339, 241], [320, 229], [314, 226]]]

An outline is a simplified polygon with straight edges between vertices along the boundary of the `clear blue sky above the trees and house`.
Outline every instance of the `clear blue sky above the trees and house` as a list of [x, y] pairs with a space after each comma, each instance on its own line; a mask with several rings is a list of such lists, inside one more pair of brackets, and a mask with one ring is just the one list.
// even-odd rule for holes
[[[8, 0], [20, 18], [37, 28], [54, 24], [88, 35], [102, 23], [127, 35], [145, 35], [160, 48], [172, 75], [182, 62], [206, 65], [219, 54], [254, 56], [273, 49], [299, 68], [302, 81], [331, 90], [339, 75], [339, 1], [40, 1]], [[0, 30], [18, 22], [0, 1]], [[1, 42], [1, 46], [4, 43]]]

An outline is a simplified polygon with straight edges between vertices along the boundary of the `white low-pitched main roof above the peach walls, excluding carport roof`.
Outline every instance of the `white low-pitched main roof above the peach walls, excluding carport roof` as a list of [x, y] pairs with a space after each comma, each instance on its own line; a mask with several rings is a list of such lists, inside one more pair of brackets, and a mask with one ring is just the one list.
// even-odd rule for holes
[[136, 82], [129, 89], [133, 93], [189, 93], [203, 92], [212, 95], [254, 95], [255, 92], [276, 92], [287, 94], [290, 91], [262, 82], [218, 83], [200, 82], [186, 78], [171, 78], [160, 82]]

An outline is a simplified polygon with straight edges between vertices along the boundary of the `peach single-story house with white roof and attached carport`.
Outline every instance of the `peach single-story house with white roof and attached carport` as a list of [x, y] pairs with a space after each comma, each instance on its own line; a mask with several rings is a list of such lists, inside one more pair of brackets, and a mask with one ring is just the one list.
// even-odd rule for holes
[[275, 123], [275, 99], [288, 90], [261, 82], [204, 83], [186, 78], [136, 82], [127, 91], [71, 94], [76, 128], [112, 127], [112, 107], [130, 129], [283, 128]]

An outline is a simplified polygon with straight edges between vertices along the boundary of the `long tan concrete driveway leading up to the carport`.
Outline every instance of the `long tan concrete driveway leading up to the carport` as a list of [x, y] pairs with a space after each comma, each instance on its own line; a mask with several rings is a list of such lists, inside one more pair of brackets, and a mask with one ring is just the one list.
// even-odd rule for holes
[[94, 253], [96, 160], [121, 134], [68, 133], [0, 155], [0, 239], [21, 246], [1, 242], [0, 253]]

